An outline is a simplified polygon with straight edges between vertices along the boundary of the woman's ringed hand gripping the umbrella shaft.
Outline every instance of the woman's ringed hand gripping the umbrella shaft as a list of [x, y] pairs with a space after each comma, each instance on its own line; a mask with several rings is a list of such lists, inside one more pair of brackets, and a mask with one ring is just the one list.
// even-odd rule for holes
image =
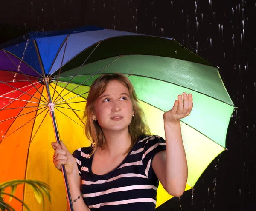
[[53, 163], [58, 170], [61, 171], [61, 165], [65, 165], [67, 175], [77, 173], [78, 171], [76, 159], [67, 150], [64, 143], [61, 141], [61, 145], [57, 142], [52, 142], [52, 148], [55, 150], [53, 155]]

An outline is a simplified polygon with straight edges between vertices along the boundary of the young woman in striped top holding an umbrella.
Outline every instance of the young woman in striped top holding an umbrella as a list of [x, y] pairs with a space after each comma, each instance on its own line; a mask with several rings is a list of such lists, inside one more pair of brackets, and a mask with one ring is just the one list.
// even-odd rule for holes
[[[166, 96], [168, 97], [168, 96]], [[187, 163], [180, 119], [192, 110], [183, 93], [163, 115], [165, 138], [150, 135], [131, 82], [123, 74], [96, 79], [87, 97], [90, 147], [73, 152], [52, 143], [53, 162], [65, 165], [75, 211], [154, 211], [159, 180], [172, 196], [186, 187]]]

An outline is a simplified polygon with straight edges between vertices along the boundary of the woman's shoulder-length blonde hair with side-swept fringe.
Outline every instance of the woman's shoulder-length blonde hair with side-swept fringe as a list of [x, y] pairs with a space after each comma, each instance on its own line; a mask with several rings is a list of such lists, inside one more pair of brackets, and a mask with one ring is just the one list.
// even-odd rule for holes
[[95, 152], [96, 147], [100, 147], [102, 149], [105, 148], [106, 140], [102, 128], [98, 121], [93, 120], [93, 113], [95, 111], [95, 103], [97, 98], [102, 95], [108, 86], [108, 83], [112, 80], [117, 80], [128, 88], [134, 110], [134, 117], [132, 118], [131, 124], [128, 127], [129, 134], [131, 135], [131, 146], [126, 153], [133, 148], [137, 139], [141, 135], [150, 134], [149, 126], [145, 120], [145, 114], [139, 106], [137, 95], [130, 80], [124, 74], [120, 73], [103, 74], [92, 83], [84, 111], [85, 135], [89, 140], [92, 141], [91, 147], [93, 148], [93, 152], [91, 155]]

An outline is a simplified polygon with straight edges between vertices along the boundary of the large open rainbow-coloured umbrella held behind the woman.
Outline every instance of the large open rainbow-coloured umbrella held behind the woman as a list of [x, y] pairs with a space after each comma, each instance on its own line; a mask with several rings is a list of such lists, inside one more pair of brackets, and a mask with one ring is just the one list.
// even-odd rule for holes
[[[48, 183], [53, 191], [47, 210], [66, 208], [51, 142], [61, 139], [71, 152], [90, 145], [82, 116], [90, 85], [101, 74], [127, 75], [152, 134], [162, 137], [163, 112], [178, 94], [192, 93], [193, 111], [181, 122], [189, 170], [186, 190], [225, 150], [234, 105], [218, 68], [175, 40], [90, 26], [21, 39], [0, 48], [0, 182], [29, 178]], [[26, 186], [18, 187], [16, 196], [32, 210], [41, 209]], [[171, 197], [160, 185], [157, 206]], [[11, 203], [21, 210], [15, 200]]]

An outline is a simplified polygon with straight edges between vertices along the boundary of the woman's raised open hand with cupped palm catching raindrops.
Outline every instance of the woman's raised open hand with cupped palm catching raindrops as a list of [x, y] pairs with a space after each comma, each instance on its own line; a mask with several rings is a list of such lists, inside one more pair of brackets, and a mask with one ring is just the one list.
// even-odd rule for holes
[[178, 100], [175, 100], [175, 103], [171, 110], [166, 111], [163, 114], [163, 119], [166, 123], [176, 123], [179, 122], [182, 118], [187, 117], [193, 108], [193, 99], [192, 94], [186, 94], [178, 96]]

